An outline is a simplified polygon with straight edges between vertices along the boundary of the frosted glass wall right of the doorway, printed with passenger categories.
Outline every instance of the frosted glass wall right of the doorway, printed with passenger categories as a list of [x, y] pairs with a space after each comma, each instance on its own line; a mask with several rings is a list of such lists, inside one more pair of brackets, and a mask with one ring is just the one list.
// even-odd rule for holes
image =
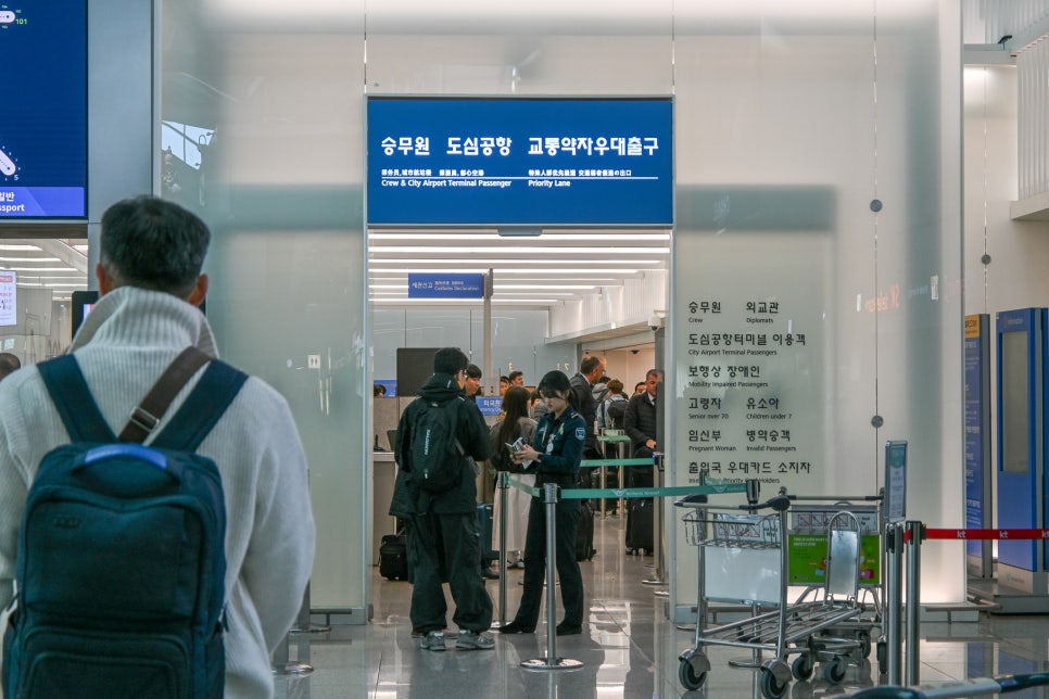
[[[677, 27], [674, 475], [875, 495], [908, 440], [908, 516], [958, 525], [959, 10], [770, 7]], [[963, 600], [961, 549], [927, 548], [956, 574], [923, 600]]]

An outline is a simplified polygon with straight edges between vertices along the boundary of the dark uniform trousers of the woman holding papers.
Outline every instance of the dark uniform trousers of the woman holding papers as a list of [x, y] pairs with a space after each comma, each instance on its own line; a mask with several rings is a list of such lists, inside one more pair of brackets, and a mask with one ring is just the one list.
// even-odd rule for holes
[[[561, 583], [561, 603], [565, 606], [564, 623], [583, 625], [583, 575], [576, 560], [576, 530], [579, 524], [579, 500], [560, 500], [555, 506], [556, 528], [554, 563]], [[524, 593], [514, 621], [534, 628], [543, 602], [543, 579], [546, 576], [546, 506], [533, 497], [528, 510], [528, 530], [524, 534]], [[548, 581], [553, 584], [553, 581]], [[551, 630], [553, 632], [553, 630]]]

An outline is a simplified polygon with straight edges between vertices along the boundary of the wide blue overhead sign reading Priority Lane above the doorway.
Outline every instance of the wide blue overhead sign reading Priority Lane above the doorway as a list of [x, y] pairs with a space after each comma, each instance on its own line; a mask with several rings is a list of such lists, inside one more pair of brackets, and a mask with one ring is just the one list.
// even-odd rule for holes
[[371, 225], [670, 226], [669, 98], [369, 98]]

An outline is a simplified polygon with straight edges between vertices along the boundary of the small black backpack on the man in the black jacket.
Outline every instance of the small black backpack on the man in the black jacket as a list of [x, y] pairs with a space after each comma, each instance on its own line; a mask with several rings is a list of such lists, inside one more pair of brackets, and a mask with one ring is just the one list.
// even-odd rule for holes
[[463, 478], [463, 445], [456, 437], [463, 398], [443, 403], [418, 398], [408, 445], [412, 483], [430, 493], [446, 493]]

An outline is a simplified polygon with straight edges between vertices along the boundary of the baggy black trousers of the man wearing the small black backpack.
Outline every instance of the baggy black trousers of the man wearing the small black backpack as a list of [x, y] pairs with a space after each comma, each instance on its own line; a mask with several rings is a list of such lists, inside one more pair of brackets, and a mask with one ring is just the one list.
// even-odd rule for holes
[[460, 630], [480, 633], [492, 625], [492, 598], [480, 567], [477, 512], [416, 514], [408, 525], [408, 570], [412, 571], [412, 628], [427, 633], [447, 626], [446, 581], [455, 601], [452, 621]]

